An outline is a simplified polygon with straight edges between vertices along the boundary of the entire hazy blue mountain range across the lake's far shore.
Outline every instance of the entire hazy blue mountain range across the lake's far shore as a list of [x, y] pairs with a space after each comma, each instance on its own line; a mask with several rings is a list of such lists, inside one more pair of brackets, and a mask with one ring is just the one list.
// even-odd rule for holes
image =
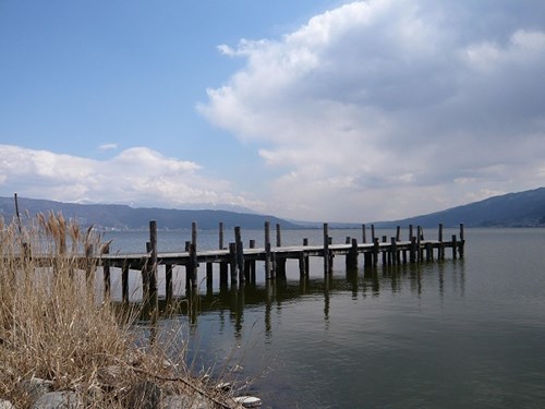
[[[159, 228], [191, 228], [193, 221], [201, 229], [215, 229], [219, 222], [226, 228], [241, 226], [246, 229], [262, 229], [265, 221], [271, 226], [280, 224], [284, 229], [318, 228], [322, 224], [286, 220], [270, 215], [240, 213], [219, 209], [166, 209], [135, 208], [117, 204], [77, 204], [47, 200], [19, 197], [20, 214], [34, 216], [37, 213], [62, 213], [65, 218], [75, 219], [82, 226], [95, 226], [106, 229], [135, 230], [146, 229], [149, 220], [157, 220]], [[15, 215], [14, 197], [0, 196], [0, 217], [9, 221]], [[362, 220], [362, 222], [368, 222]], [[441, 222], [445, 227], [456, 227], [463, 222], [465, 227], [537, 227], [545, 226], [545, 188], [508, 193], [470, 203], [462, 206], [420, 215], [410, 218], [375, 221], [376, 227], [395, 226], [433, 227]], [[330, 222], [330, 227], [359, 227], [360, 224]]]

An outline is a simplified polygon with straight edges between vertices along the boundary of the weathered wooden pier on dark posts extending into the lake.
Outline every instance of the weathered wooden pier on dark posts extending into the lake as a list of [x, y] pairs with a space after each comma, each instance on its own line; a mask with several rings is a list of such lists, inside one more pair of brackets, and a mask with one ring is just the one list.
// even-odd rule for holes
[[[356, 231], [356, 230], [355, 230]], [[359, 234], [360, 236], [360, 234]], [[177, 253], [157, 252], [157, 224], [149, 222], [149, 242], [146, 243], [146, 252], [140, 254], [109, 254], [108, 246], [102, 249], [101, 254], [93, 256], [93, 263], [87, 265], [101, 266], [104, 270], [105, 290], [110, 288], [110, 268], [121, 269], [122, 298], [129, 301], [129, 273], [138, 270], [142, 273], [143, 292], [157, 296], [157, 270], [159, 265], [165, 265], [166, 294], [172, 297], [172, 272], [175, 266], [184, 266], [187, 287], [197, 287], [197, 270], [199, 265], [206, 265], [206, 284], [211, 286], [214, 264], [219, 264], [220, 285], [231, 285], [246, 280], [255, 281], [256, 262], [265, 266], [265, 279], [275, 279], [277, 276], [286, 276], [286, 263], [288, 260], [299, 262], [301, 276], [308, 275], [310, 257], [324, 258], [324, 274], [332, 270], [334, 257], [343, 255], [347, 268], [358, 267], [359, 255], [363, 254], [364, 267], [378, 264], [396, 265], [407, 263], [423, 263], [434, 260], [444, 260], [449, 251], [452, 258], [463, 257], [464, 234], [463, 225], [460, 225], [460, 233], [444, 240], [443, 225], [438, 227], [437, 240], [424, 239], [421, 227], [413, 229], [409, 226], [408, 240], [401, 239], [401, 229], [398, 227], [396, 236], [382, 238], [375, 237], [375, 228], [371, 226], [371, 238], [367, 240], [367, 230], [362, 225], [361, 241], [358, 238], [347, 237], [344, 243], [332, 243], [329, 236], [329, 227], [324, 224], [324, 241], [320, 245], [310, 245], [307, 239], [303, 239], [301, 245], [281, 244], [280, 226], [276, 226], [276, 245], [270, 241], [270, 226], [265, 222], [265, 245], [255, 248], [255, 240], [250, 240], [245, 248], [242, 242], [240, 227], [234, 228], [234, 242], [228, 245], [223, 243], [223, 225], [219, 225], [219, 246], [217, 250], [197, 251], [197, 227], [192, 225], [192, 240], [185, 243], [185, 250]], [[448, 249], [448, 250], [447, 250]], [[86, 257], [87, 260], [89, 256]]]

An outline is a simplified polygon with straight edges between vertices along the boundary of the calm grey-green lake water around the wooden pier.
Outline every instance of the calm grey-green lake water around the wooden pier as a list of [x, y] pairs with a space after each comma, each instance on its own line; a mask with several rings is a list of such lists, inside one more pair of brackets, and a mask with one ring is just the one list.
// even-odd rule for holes
[[[330, 233], [335, 242], [361, 236]], [[159, 250], [180, 250], [189, 237], [159, 232]], [[303, 237], [319, 243], [322, 231], [286, 231], [282, 243]], [[543, 408], [545, 229], [465, 229], [465, 239], [463, 260], [448, 250], [448, 260], [420, 266], [364, 270], [361, 257], [347, 272], [338, 256], [328, 281], [322, 258], [303, 281], [296, 263], [271, 284], [257, 264], [255, 285], [203, 284], [198, 315], [172, 320], [191, 322], [197, 366], [239, 364], [238, 380], [252, 380], [264, 407]], [[145, 241], [145, 232], [118, 233], [113, 246], [138, 251]], [[201, 232], [198, 246], [216, 248], [217, 232]], [[183, 279], [179, 270], [182, 296]], [[132, 288], [138, 297], [137, 281]]]

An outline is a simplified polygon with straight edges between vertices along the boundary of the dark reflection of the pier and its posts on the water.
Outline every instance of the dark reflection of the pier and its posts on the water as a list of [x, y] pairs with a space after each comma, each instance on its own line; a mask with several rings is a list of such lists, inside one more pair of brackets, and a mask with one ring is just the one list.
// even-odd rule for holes
[[[450, 277], [450, 278], [448, 278]], [[446, 285], [451, 279], [452, 286]], [[463, 260], [446, 260], [434, 263], [386, 265], [366, 268], [335, 269], [324, 276], [277, 277], [274, 280], [246, 281], [228, 285], [222, 282], [218, 289], [207, 286], [206, 291], [186, 288], [184, 297], [159, 300], [159, 310], [171, 316], [172, 313], [187, 317], [193, 330], [198, 326], [202, 314], [217, 314], [220, 330], [227, 322], [240, 338], [244, 330], [244, 313], [249, 309], [263, 311], [266, 337], [272, 330], [271, 314], [281, 314], [284, 305], [304, 302], [305, 299], [323, 299], [324, 322], [330, 321], [331, 302], [336, 297], [350, 294], [353, 301], [367, 297], [380, 298], [388, 294], [422, 297], [423, 291], [437, 293], [444, 299], [447, 290], [464, 297], [465, 274]]]

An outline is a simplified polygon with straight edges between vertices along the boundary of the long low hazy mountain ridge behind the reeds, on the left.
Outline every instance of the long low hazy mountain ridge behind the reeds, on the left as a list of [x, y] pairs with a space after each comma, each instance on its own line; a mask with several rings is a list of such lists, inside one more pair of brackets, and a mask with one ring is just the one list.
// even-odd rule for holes
[[[263, 229], [265, 221], [269, 221], [271, 226], [278, 222], [284, 229], [300, 228], [291, 221], [274, 216], [229, 210], [134, 208], [126, 205], [62, 203], [25, 197], [19, 197], [17, 202], [23, 219], [25, 214], [35, 216], [38, 213], [60, 212], [64, 218], [75, 219], [82, 226], [93, 225], [108, 229], [146, 229], [149, 220], [157, 220], [159, 229], [189, 229], [193, 221], [196, 221], [199, 229], [217, 229], [220, 221], [226, 228], [240, 226], [246, 229]], [[0, 197], [0, 216], [7, 221], [15, 216], [13, 197]]]

